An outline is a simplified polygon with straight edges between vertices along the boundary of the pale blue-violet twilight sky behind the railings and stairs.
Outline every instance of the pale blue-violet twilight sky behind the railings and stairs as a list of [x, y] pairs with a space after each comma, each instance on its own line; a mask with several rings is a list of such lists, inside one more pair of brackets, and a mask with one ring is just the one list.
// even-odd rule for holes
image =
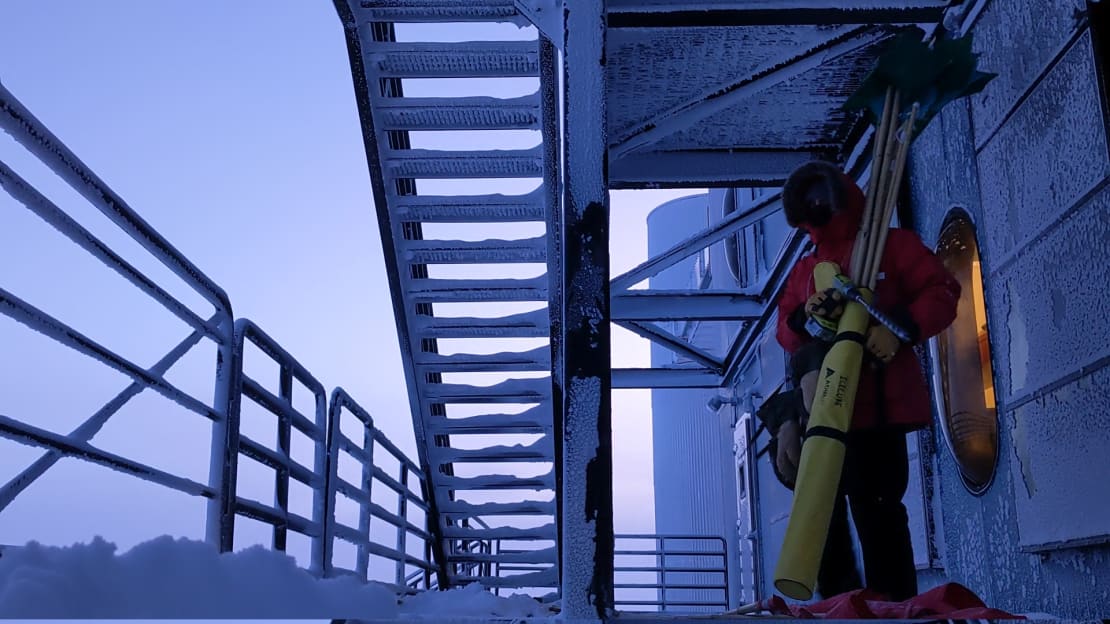
[[[329, 391], [345, 388], [413, 452], [346, 48], [331, 2], [4, 0], [0, 82], [220, 284], [236, 318], [261, 325]], [[0, 160], [193, 310], [211, 313], [6, 133]], [[614, 274], [645, 259], [647, 212], [687, 194], [614, 193]], [[188, 333], [7, 193], [0, 286], [142, 366]], [[620, 330], [614, 336], [615, 366], [647, 364], [646, 342]], [[7, 316], [0, 345], [0, 414], [58, 433], [128, 383]], [[213, 362], [205, 343], [168, 379], [210, 402]], [[248, 373], [270, 386], [274, 370], [249, 354]], [[272, 431], [262, 414], [244, 411], [244, 430]], [[614, 423], [616, 529], [650, 531], [647, 392], [615, 393]], [[201, 416], [144, 392], [93, 443], [204, 482], [208, 429]], [[294, 457], [305, 461], [307, 452], [294, 441]], [[40, 454], [0, 439], [0, 483]], [[264, 476], [244, 471], [245, 493], [269, 501]], [[304, 501], [293, 496], [295, 511]], [[163, 533], [200, 537], [203, 509], [198, 499], [65, 460], [0, 512], [0, 543], [67, 544], [99, 534], [127, 547]], [[236, 547], [269, 542], [251, 521], [236, 531]], [[291, 552], [297, 548], [291, 541]]]

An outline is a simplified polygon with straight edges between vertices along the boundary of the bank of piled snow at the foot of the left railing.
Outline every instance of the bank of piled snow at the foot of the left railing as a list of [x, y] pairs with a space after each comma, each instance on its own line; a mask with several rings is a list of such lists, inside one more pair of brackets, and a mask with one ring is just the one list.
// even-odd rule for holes
[[553, 615], [535, 600], [477, 585], [406, 597], [352, 577], [319, 580], [262, 546], [219, 554], [162, 536], [118, 554], [97, 537], [68, 547], [31, 542], [0, 554], [0, 618], [518, 620]]

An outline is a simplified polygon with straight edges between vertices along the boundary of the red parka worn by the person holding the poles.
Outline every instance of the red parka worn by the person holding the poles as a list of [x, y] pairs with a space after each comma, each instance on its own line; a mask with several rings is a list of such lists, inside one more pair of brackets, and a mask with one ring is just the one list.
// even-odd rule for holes
[[[848, 187], [844, 209], [823, 228], [803, 224], [816, 249], [790, 271], [778, 302], [777, 338], [788, 353], [813, 340], [791, 328], [788, 321], [815, 292], [814, 266], [830, 261], [842, 271], [848, 270], [865, 199], [854, 181], [847, 177], [844, 180]], [[874, 305], [909, 325], [907, 329], [918, 343], [940, 333], [956, 319], [956, 303], [960, 298], [959, 282], [932, 251], [916, 233], [898, 228], [892, 228], [887, 238], [875, 291]], [[884, 381], [881, 393], [879, 378]], [[880, 402], [881, 409], [877, 409]], [[891, 425], [912, 430], [931, 422], [928, 385], [910, 345], [902, 345], [886, 366], [865, 358], [856, 391], [852, 429]]]

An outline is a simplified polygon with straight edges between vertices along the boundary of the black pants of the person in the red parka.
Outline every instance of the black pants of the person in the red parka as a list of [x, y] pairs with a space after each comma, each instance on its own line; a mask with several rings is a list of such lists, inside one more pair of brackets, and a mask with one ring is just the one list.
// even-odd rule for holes
[[909, 516], [901, 502], [908, 482], [905, 432], [848, 434], [840, 492], [817, 575], [817, 591], [823, 597], [864, 586], [848, 530], [849, 505], [862, 547], [866, 586], [895, 601], [917, 595]]

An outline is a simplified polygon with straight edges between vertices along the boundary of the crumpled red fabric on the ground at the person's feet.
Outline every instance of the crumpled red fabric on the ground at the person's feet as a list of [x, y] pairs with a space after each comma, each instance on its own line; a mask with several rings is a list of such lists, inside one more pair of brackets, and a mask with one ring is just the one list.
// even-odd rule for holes
[[870, 590], [856, 590], [813, 604], [787, 604], [774, 596], [761, 606], [776, 615], [800, 618], [927, 618], [946, 620], [1025, 620], [997, 608], [990, 608], [979, 596], [959, 583], [947, 583], [902, 602], [888, 602]]

